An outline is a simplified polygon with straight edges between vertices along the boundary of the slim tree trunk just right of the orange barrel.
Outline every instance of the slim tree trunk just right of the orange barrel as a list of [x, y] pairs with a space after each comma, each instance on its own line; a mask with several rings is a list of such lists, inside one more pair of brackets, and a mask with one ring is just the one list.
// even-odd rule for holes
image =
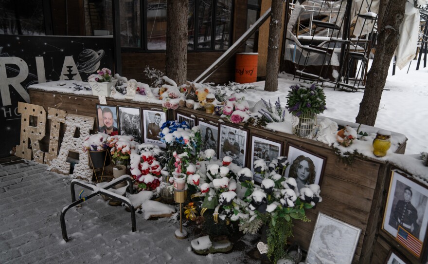
[[278, 55], [279, 35], [283, 15], [283, 0], [272, 0], [272, 14], [269, 23], [269, 39], [267, 44], [267, 64], [265, 91], [278, 91]]

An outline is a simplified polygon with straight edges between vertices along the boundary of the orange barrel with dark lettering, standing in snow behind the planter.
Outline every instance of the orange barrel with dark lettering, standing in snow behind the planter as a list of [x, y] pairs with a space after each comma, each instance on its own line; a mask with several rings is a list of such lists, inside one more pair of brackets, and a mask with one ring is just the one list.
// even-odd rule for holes
[[257, 81], [258, 53], [236, 54], [235, 82], [249, 83]]

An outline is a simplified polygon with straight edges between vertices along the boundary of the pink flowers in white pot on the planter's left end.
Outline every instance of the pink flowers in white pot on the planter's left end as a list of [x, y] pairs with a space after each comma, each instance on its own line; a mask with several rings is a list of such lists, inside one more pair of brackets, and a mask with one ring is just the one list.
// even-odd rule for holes
[[[111, 90], [115, 89], [114, 86], [116, 85], [117, 79], [111, 75], [109, 69], [103, 68], [98, 70], [97, 74], [90, 75], [88, 77], [88, 82], [92, 88], [93, 95], [104, 95], [108, 97], [111, 94]], [[111, 88], [112, 86], [113, 88]]]

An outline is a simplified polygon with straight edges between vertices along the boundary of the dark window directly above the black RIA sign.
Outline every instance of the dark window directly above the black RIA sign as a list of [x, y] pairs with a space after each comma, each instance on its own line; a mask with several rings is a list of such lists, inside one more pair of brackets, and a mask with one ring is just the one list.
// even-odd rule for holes
[[112, 0], [2, 0], [0, 34], [112, 35], [112, 15]]

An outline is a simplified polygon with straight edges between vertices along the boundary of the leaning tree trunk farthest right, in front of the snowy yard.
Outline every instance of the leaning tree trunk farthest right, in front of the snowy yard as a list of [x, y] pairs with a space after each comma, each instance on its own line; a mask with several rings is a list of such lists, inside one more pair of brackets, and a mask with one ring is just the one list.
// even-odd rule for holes
[[356, 122], [374, 126], [379, 109], [380, 97], [385, 86], [388, 68], [398, 45], [399, 28], [404, 18], [406, 1], [390, 2], [386, 8], [382, 28], [377, 37], [377, 46], [372, 68], [367, 74], [366, 87]]

